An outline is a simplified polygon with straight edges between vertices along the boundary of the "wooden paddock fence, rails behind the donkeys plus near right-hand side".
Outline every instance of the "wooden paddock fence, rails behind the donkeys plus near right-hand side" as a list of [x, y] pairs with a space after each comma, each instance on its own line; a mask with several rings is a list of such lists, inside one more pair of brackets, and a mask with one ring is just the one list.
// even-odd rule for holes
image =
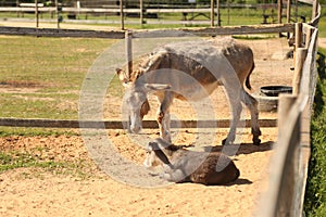
[[[276, 26], [241, 26], [241, 27], [214, 27], [197, 29], [177, 29], [177, 30], [156, 30], [155, 31], [136, 31], [138, 37], [171, 37], [171, 36], [189, 36], [195, 34], [199, 36], [208, 35], [240, 35], [258, 33], [293, 33], [296, 29], [296, 76], [293, 78], [294, 94], [280, 95], [278, 111], [278, 140], [275, 145], [275, 155], [272, 159], [273, 169], [269, 175], [269, 188], [261, 200], [261, 205], [256, 210], [256, 216], [275, 217], [275, 216], [302, 216], [302, 206], [308, 173], [308, 162], [310, 155], [310, 120], [311, 108], [314, 98], [316, 84], [315, 56], [317, 47], [318, 29], [314, 26], [318, 24], [321, 8], [314, 1], [313, 17], [310, 24], [280, 24]], [[72, 35], [72, 33], [74, 33]], [[87, 34], [85, 34], [87, 33]], [[67, 29], [35, 29], [17, 27], [0, 27], [0, 34], [7, 35], [35, 35], [35, 36], [59, 36], [59, 37], [103, 37], [103, 38], [124, 38], [124, 31], [83, 31]], [[186, 34], [185, 34], [186, 33]], [[80, 35], [82, 34], [82, 35]], [[42, 127], [58, 127], [60, 120], [17, 120], [2, 118], [2, 126], [36, 126], [43, 124]], [[63, 127], [78, 127], [78, 120], [64, 120]], [[248, 120], [246, 120], [248, 122]], [[260, 120], [263, 122], [263, 120]], [[21, 123], [21, 124], [20, 124]], [[22, 124], [23, 123], [23, 124]], [[36, 123], [36, 124], [35, 124]], [[46, 125], [46, 123], [48, 123]], [[53, 124], [54, 123], [54, 124]], [[229, 120], [222, 120], [218, 127], [228, 127]], [[82, 123], [82, 126], [97, 127], [108, 125], [110, 122], [89, 122]], [[249, 124], [249, 123], [248, 123]], [[248, 125], [247, 124], [247, 125]], [[263, 126], [275, 126], [276, 122], [261, 123]], [[146, 124], [147, 125], [147, 124]], [[154, 123], [149, 125], [155, 125]], [[215, 124], [213, 124], [215, 126]], [[183, 127], [198, 126], [196, 122], [185, 122]], [[113, 123], [113, 127], [122, 127]]]

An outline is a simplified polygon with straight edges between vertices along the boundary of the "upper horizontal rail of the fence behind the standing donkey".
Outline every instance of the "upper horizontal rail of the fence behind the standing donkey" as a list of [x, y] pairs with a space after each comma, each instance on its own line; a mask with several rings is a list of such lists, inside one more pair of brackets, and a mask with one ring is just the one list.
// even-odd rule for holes
[[[177, 28], [134, 30], [134, 38], [161, 38], [161, 37], [189, 37], [193, 36], [217, 36], [217, 35], [248, 35], [248, 34], [272, 34], [292, 33], [293, 24], [281, 25], [253, 25], [253, 26], [227, 26], [208, 28]], [[37, 37], [82, 37], [82, 38], [113, 38], [124, 39], [123, 30], [78, 30], [58, 28], [29, 28], [0, 26], [0, 35], [37, 36]]]

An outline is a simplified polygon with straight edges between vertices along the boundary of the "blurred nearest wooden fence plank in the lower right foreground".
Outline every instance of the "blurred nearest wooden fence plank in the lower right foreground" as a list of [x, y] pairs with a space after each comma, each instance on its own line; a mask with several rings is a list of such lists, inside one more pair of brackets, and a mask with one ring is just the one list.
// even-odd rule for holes
[[[292, 97], [290, 95], [290, 98]], [[292, 101], [292, 99], [290, 101]], [[283, 120], [279, 123], [280, 128], [278, 129], [278, 139], [275, 145], [274, 156], [271, 161], [268, 190], [264, 193], [259, 204], [260, 208], [256, 216], [296, 216], [291, 215], [292, 213], [287, 215], [287, 212], [292, 210], [293, 201], [291, 200], [292, 195], [290, 195], [290, 193], [293, 191], [288, 191], [288, 189], [285, 188], [288, 187], [288, 176], [293, 175], [289, 174], [289, 169], [293, 168], [292, 164], [289, 164], [289, 161], [292, 161], [293, 149], [296, 149], [296, 145], [299, 142], [298, 127], [300, 126], [300, 114], [306, 102], [306, 97], [299, 94], [294, 103], [288, 101], [286, 102], [286, 107], [283, 107], [285, 103], [280, 97], [279, 107], [281, 111], [278, 114], [283, 116]], [[291, 183], [292, 186], [296, 184], [297, 175], [294, 176], [294, 179], [292, 179], [293, 177], [290, 178], [291, 180], [294, 180], [294, 183]], [[285, 203], [284, 196], [288, 199], [290, 206], [285, 206], [288, 202]]]

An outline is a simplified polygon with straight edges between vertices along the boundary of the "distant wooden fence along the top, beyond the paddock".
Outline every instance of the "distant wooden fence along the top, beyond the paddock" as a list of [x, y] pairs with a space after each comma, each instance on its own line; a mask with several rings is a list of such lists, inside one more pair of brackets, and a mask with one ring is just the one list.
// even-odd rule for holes
[[[36, 1], [37, 2], [37, 1]], [[142, 2], [142, 1], [140, 1]], [[118, 5], [110, 5], [110, 7], [104, 7], [102, 8], [83, 8], [80, 4], [76, 4], [76, 7], [61, 7], [61, 5], [55, 5], [55, 7], [45, 7], [42, 3], [21, 3], [18, 7], [0, 7], [0, 12], [15, 12], [17, 14], [24, 14], [24, 13], [35, 13], [36, 15], [36, 26], [38, 27], [39, 24], [39, 14], [40, 13], [50, 13], [51, 17], [54, 16], [58, 22], [58, 28], [60, 27], [59, 23], [62, 21], [60, 18], [60, 13], [66, 13], [72, 15], [73, 17], [76, 18], [76, 15], [85, 14], [87, 17], [87, 14], [118, 14], [121, 16], [121, 28], [124, 29], [124, 16], [125, 14], [139, 14], [139, 24], [146, 23], [143, 20], [146, 14], [171, 14], [171, 13], [179, 13], [183, 14], [183, 21], [160, 21], [159, 23], [165, 23], [165, 24], [211, 24], [211, 26], [221, 26], [221, 9], [228, 9], [227, 10], [227, 17], [229, 18], [229, 10], [230, 9], [239, 9], [239, 8], [246, 8], [246, 9], [254, 9], [254, 10], [262, 10], [262, 23], [267, 23], [266, 18], [271, 15], [265, 14], [266, 9], [275, 9], [276, 14], [275, 16], [278, 17], [277, 23], [281, 23], [281, 17], [283, 17], [283, 8], [284, 5], [281, 4], [281, 0], [278, 0], [278, 3], [260, 3], [260, 4], [235, 4], [235, 3], [226, 3], [222, 4], [220, 3], [218, 0], [211, 0], [211, 4], [205, 4], [205, 5], [199, 5], [198, 8], [195, 7], [189, 7], [189, 5], [184, 5], [183, 8], [165, 8], [164, 4], [158, 4], [158, 3], [150, 3], [146, 7], [143, 7], [142, 3], [139, 2], [139, 5], [135, 7], [136, 8], [127, 8], [124, 5], [123, 1], [121, 1], [121, 7]], [[290, 2], [290, 1], [288, 1]], [[297, 4], [296, 4], [297, 5]], [[291, 4], [288, 3], [286, 5], [287, 8], [287, 13], [286, 13], [286, 20], [287, 23], [290, 23], [291, 20]], [[196, 13], [198, 15], [204, 15], [208, 17], [206, 21], [193, 21], [195, 16], [187, 18], [187, 14], [193, 14]], [[208, 15], [210, 14], [210, 15]], [[62, 16], [61, 16], [62, 17]], [[274, 18], [273, 18], [274, 20]], [[214, 23], [214, 21], [216, 21]], [[297, 21], [297, 17], [296, 17]], [[149, 21], [151, 22], [151, 21]], [[158, 24], [158, 22], [151, 22]], [[274, 22], [273, 22], [274, 23]], [[275, 21], [276, 23], [276, 21]]]

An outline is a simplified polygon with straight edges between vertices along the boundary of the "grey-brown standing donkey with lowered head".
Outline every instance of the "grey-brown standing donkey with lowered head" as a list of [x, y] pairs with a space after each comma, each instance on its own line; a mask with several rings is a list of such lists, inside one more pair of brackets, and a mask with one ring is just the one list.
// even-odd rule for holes
[[234, 143], [241, 102], [250, 110], [253, 143], [260, 144], [258, 102], [243, 88], [250, 86], [254, 68], [252, 50], [233, 38], [168, 43], [155, 49], [129, 76], [116, 69], [126, 87], [129, 127], [141, 130], [143, 115], [150, 110], [147, 97], [152, 92], [161, 103], [158, 111], [160, 136], [171, 142], [170, 106], [173, 99], [199, 101], [223, 85], [231, 108], [231, 123], [223, 144]]

